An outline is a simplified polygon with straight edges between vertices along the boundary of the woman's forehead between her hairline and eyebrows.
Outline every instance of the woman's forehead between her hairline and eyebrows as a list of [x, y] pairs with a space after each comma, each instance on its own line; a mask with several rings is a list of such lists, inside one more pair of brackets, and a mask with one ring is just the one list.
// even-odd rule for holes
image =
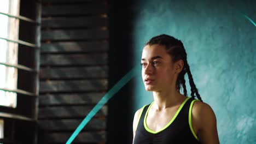
[[150, 60], [152, 57], [160, 56], [163, 59], [170, 57], [166, 52], [165, 46], [154, 44], [146, 45], [142, 51], [142, 59]]

